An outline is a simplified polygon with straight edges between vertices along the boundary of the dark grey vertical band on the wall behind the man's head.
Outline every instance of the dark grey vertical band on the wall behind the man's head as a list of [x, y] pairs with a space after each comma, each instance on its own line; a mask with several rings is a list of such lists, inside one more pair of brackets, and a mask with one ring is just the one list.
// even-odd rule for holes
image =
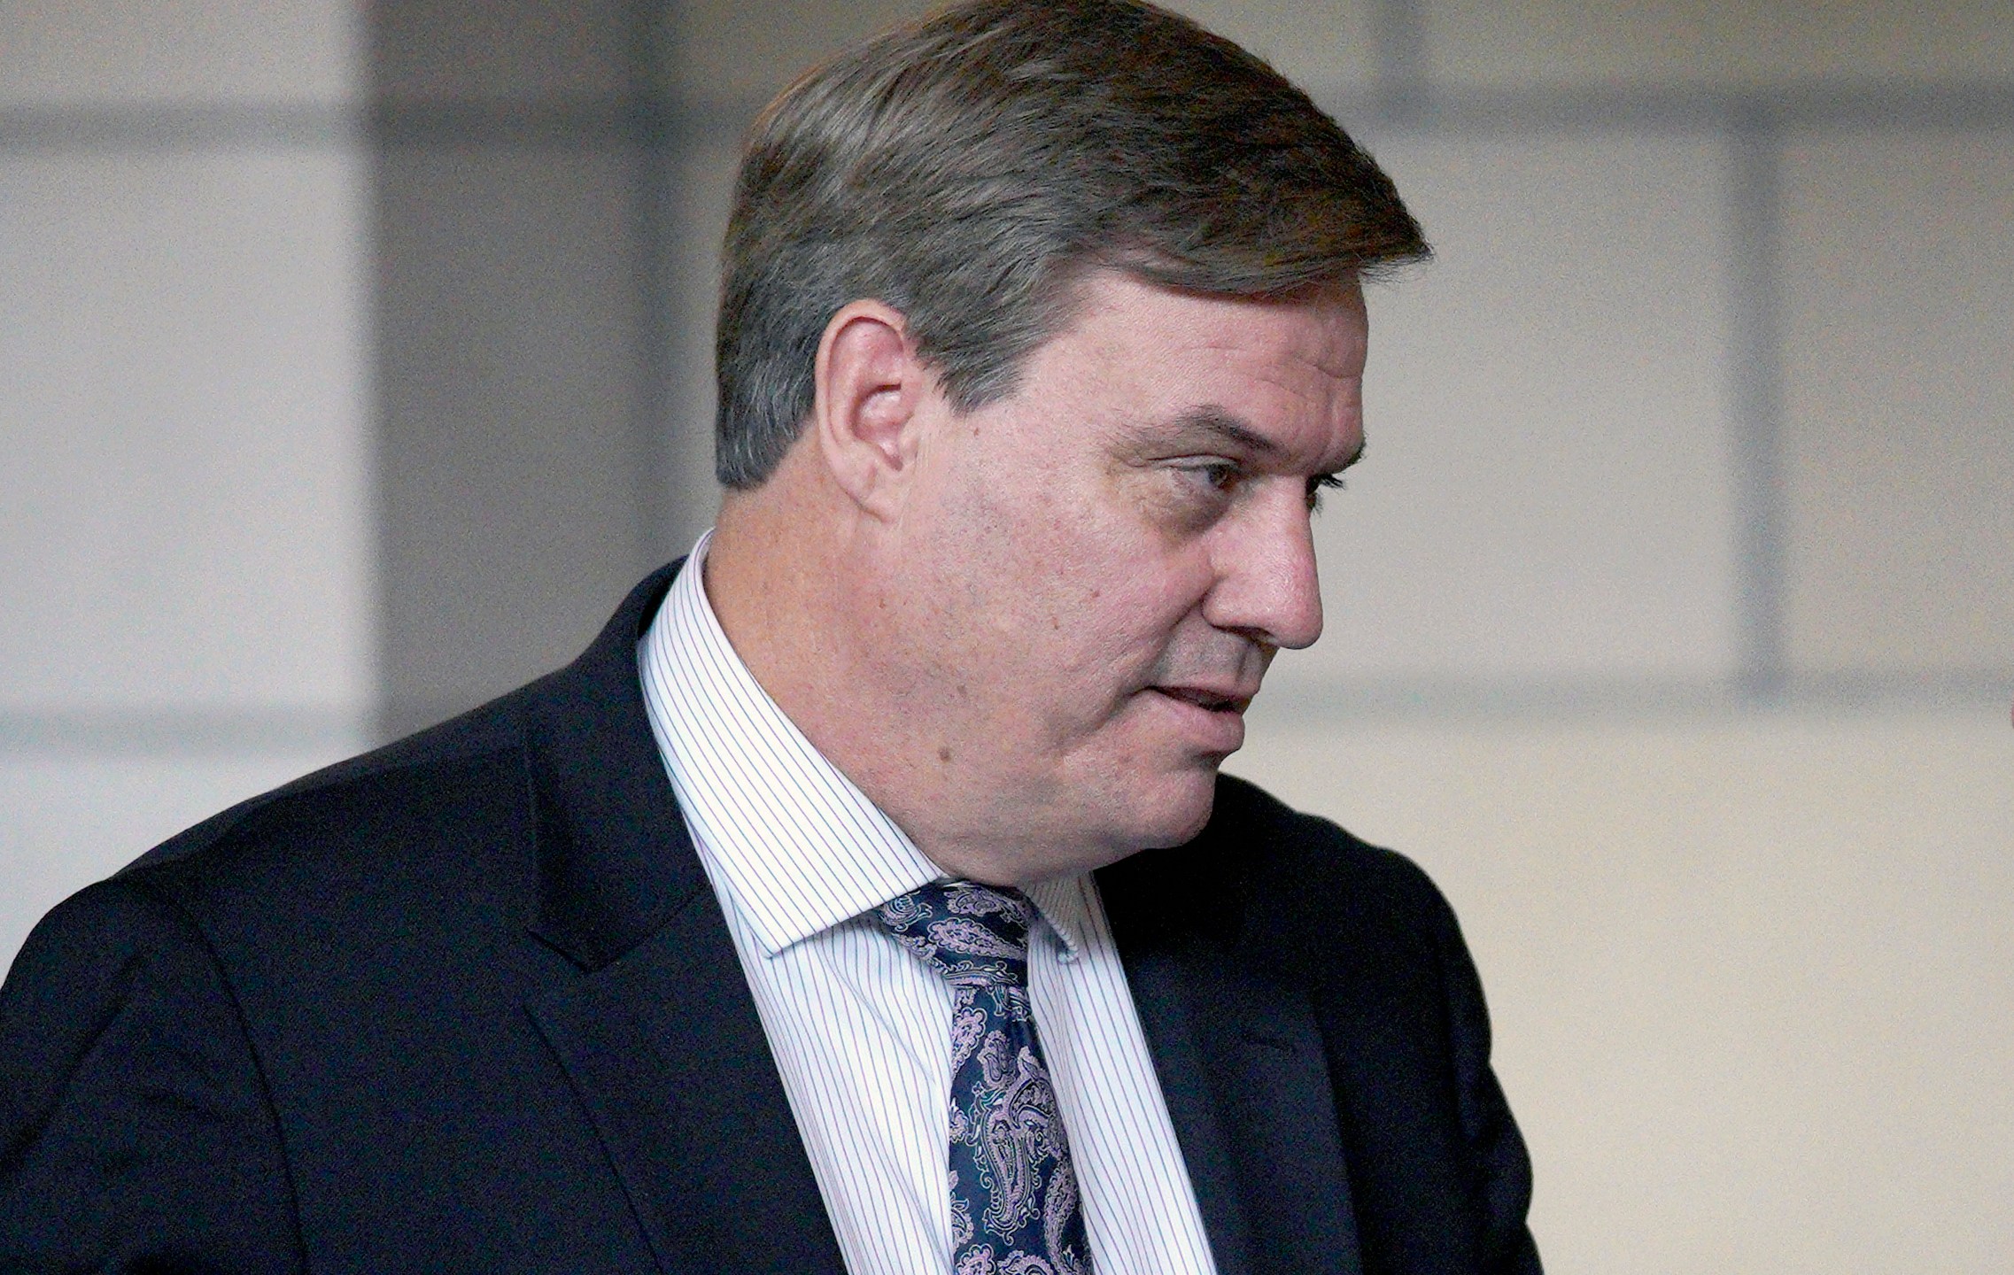
[[365, 6], [383, 735], [570, 661], [657, 558], [638, 4]]

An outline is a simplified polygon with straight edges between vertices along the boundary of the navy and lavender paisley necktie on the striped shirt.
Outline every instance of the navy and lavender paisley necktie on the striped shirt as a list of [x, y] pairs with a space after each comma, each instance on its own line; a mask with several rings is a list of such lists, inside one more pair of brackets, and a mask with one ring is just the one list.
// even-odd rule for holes
[[951, 983], [951, 1269], [1090, 1275], [1063, 1114], [1027, 999], [1019, 890], [943, 880], [892, 898], [880, 920]]

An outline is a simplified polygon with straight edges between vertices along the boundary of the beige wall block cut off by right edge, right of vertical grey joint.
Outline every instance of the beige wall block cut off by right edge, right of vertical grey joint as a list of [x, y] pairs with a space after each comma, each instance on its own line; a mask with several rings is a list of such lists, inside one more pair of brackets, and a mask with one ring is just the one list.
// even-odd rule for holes
[[1794, 667], [2014, 671], [2014, 133], [1784, 155]]

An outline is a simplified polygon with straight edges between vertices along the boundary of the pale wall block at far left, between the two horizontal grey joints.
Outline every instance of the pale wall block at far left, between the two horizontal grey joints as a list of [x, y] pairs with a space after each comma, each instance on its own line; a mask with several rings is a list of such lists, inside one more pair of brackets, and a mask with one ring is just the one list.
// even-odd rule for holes
[[0, 153], [0, 711], [363, 711], [363, 163]]

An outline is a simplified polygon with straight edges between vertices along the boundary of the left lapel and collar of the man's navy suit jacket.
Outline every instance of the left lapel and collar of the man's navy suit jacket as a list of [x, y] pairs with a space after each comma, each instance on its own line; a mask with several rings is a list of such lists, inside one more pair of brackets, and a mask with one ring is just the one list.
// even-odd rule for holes
[[572, 967], [526, 1009], [586, 1106], [659, 1267], [842, 1275], [719, 902], [651, 737], [636, 641], [679, 564], [532, 689], [530, 933]]

